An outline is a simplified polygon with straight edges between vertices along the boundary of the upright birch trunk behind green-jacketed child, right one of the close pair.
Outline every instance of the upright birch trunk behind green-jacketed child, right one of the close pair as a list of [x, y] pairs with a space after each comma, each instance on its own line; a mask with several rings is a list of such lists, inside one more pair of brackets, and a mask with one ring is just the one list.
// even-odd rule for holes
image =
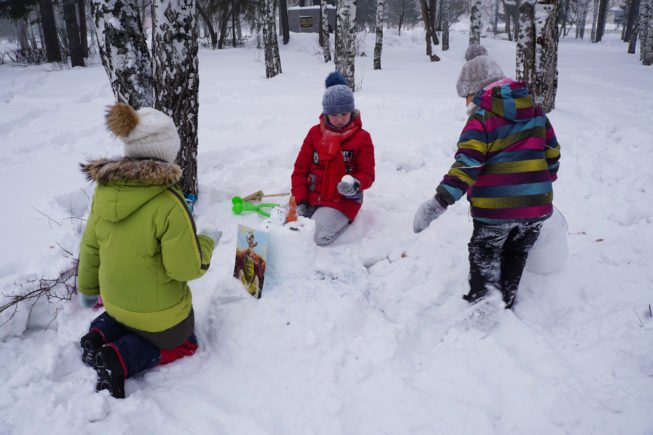
[[181, 188], [197, 195], [199, 102], [195, 0], [153, 0], [154, 107], [169, 115], [179, 132]]

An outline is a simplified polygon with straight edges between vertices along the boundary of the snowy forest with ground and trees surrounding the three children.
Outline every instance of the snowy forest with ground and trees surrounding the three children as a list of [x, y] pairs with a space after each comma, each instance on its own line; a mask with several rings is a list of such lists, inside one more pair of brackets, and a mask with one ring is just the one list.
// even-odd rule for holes
[[[561, 153], [548, 251], [489, 314], [462, 298], [465, 198], [413, 231], [478, 45]], [[651, 65], [653, 0], [0, 0], [0, 435], [652, 434]], [[333, 71], [376, 179], [316, 246], [285, 219]], [[195, 354], [124, 380], [124, 400], [84, 361], [104, 307], [78, 291], [97, 184], [80, 164], [122, 153], [116, 103], [173, 121], [193, 229], [221, 233], [189, 281]], [[267, 237], [260, 298], [242, 226]]]

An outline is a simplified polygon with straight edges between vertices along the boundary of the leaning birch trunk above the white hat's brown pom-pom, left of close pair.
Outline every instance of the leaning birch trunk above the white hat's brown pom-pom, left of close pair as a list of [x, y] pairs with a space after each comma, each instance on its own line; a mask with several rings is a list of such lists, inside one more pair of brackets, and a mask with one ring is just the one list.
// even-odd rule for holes
[[92, 0], [98, 48], [117, 101], [139, 109], [154, 106], [152, 61], [133, 2]]

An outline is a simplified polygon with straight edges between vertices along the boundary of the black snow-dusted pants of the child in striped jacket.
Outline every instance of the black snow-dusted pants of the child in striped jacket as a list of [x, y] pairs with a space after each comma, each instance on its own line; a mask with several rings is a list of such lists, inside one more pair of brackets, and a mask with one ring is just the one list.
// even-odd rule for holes
[[541, 221], [489, 224], [474, 220], [469, 247], [469, 293], [474, 302], [496, 289], [512, 308], [528, 251], [540, 235]]

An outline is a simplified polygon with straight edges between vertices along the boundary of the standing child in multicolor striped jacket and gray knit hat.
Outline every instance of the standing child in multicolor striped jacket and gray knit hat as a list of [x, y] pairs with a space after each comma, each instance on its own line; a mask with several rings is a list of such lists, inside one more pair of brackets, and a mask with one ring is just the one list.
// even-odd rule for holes
[[455, 162], [418, 208], [413, 230], [427, 228], [467, 193], [474, 230], [463, 298], [476, 302], [498, 290], [512, 308], [528, 252], [553, 212], [560, 145], [526, 83], [507, 78], [480, 45], [471, 45], [465, 60], [456, 88], [469, 118]]

